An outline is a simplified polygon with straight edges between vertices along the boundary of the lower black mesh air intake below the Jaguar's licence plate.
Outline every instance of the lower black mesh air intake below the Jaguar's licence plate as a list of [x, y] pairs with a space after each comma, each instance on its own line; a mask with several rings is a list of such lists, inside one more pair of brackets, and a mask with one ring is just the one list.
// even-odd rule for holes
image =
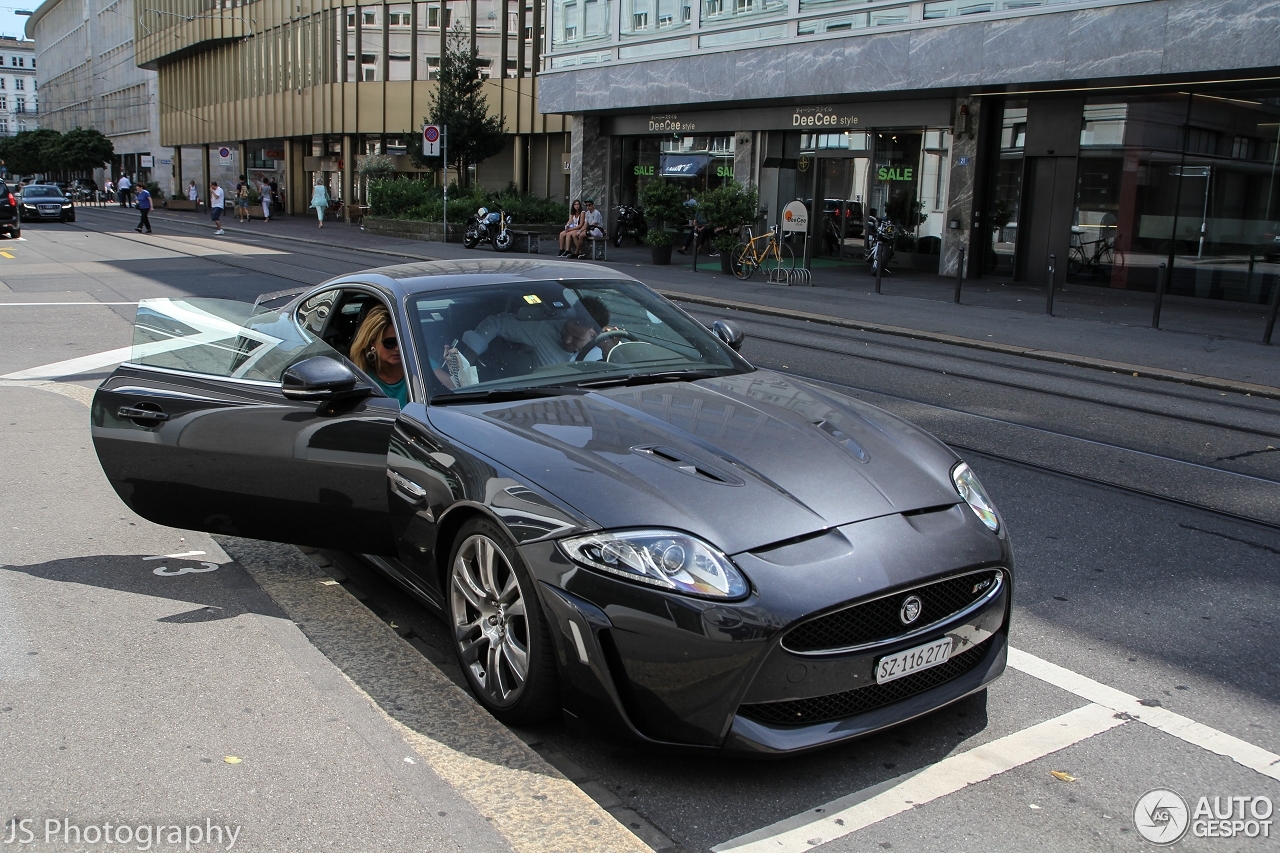
[[916, 693], [932, 690], [940, 684], [946, 684], [951, 679], [960, 678], [982, 662], [991, 649], [995, 638], [988, 638], [978, 643], [968, 652], [956, 654], [942, 666], [923, 670], [913, 675], [890, 681], [888, 684], [870, 684], [844, 693], [818, 695], [812, 699], [792, 699], [790, 702], [762, 702], [760, 704], [739, 706], [737, 712], [773, 726], [806, 726], [828, 720], [851, 717], [855, 713], [865, 713], [874, 708], [901, 702]]

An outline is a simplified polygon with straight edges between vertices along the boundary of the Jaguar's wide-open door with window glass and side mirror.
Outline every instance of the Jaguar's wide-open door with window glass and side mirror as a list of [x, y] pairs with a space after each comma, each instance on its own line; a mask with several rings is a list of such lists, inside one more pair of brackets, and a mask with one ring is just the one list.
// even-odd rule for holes
[[174, 528], [394, 555], [387, 448], [399, 405], [287, 314], [138, 306], [131, 360], [93, 397], [120, 498]]

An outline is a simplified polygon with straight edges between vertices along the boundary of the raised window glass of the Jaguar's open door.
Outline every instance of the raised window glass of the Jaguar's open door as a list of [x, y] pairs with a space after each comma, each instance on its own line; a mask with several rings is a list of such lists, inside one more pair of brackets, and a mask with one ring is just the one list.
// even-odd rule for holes
[[229, 300], [143, 300], [129, 361], [230, 379], [279, 382], [312, 356], [343, 360], [292, 318]]

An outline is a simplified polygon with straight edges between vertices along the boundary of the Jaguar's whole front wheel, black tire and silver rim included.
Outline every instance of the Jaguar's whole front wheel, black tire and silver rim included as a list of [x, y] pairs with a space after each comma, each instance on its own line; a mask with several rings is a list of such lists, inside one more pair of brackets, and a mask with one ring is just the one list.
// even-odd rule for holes
[[449, 558], [449, 628], [472, 693], [508, 725], [559, 708], [550, 628], [515, 543], [489, 519], [458, 532]]

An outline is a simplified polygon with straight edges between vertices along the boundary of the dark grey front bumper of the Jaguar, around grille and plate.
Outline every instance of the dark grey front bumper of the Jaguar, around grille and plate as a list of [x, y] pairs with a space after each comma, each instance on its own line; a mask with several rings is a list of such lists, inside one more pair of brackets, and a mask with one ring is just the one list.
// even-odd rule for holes
[[[525, 546], [556, 625], [566, 711], [653, 744], [768, 756], [861, 736], [980, 690], [1005, 667], [1011, 553], [1007, 539], [986, 532], [968, 508], [954, 517], [959, 526], [945, 535], [922, 534], [902, 516], [849, 525], [845, 539], [859, 548], [808, 565], [736, 555], [755, 592], [732, 603], [590, 573], [553, 543]], [[957, 556], [978, 560], [947, 565]], [[814, 613], [987, 567], [1004, 570], [998, 594], [923, 633], [850, 652], [782, 647], [786, 631]], [[941, 637], [954, 640], [947, 663], [876, 684], [881, 657]]]

